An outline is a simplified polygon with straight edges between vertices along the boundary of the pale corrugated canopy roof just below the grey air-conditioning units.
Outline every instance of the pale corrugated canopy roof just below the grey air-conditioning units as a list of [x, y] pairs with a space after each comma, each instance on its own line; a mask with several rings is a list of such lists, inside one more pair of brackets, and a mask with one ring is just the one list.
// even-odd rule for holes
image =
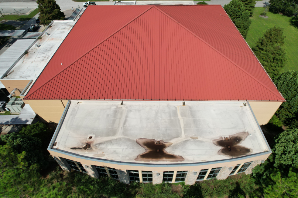
[[19, 115], [2, 115], [0, 124], [31, 124], [36, 116], [29, 104], [25, 104]]

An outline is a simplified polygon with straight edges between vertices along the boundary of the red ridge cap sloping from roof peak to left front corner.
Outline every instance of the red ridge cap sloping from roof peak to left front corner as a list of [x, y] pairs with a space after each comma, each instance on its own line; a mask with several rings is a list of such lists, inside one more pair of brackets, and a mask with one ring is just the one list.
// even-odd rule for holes
[[[111, 36], [115, 35], [118, 31], [122, 30], [125, 26], [127, 26], [128, 24], [130, 24], [132, 21], [134, 21], [135, 19], [139, 18], [141, 15], [143, 15], [145, 12], [147, 12], [148, 10], [150, 10], [151, 8], [153, 8], [154, 5], [148, 5], [148, 9], [146, 9], [144, 12], [141, 12], [141, 14], [139, 14], [138, 16], [136, 16], [135, 18], [133, 18], [131, 21], [129, 21], [128, 23], [126, 23], [124, 26], [122, 26], [121, 28], [119, 28], [117, 31], [115, 31], [114, 33], [112, 33], [110, 36], [108, 36], [108, 38], [110, 38]], [[69, 66], [67, 66], [66, 68], [64, 68], [62, 71], [60, 71], [58, 74], [56, 74], [53, 78], [55, 78], [56, 76], [58, 76], [59, 74], [61, 74], [63, 71], [65, 71], [67, 68], [69, 68], [71, 65], [73, 65], [75, 62], [77, 62], [78, 60], [80, 60], [82, 57], [84, 57], [86, 54], [88, 54], [90, 51], [94, 50], [95, 48], [97, 48], [99, 45], [101, 45], [104, 41], [106, 41], [108, 38], [105, 38], [103, 41], [101, 41], [98, 45], [96, 45], [94, 48], [92, 48], [91, 50], [87, 51], [87, 53], [85, 53], [83, 56], [81, 56], [80, 58], [78, 58], [76, 61], [74, 61], [72, 64], [70, 64]], [[62, 44], [62, 43], [61, 43]], [[56, 53], [56, 52], [55, 52]], [[50, 61], [49, 61], [50, 62]], [[46, 64], [47, 65], [47, 64]], [[40, 76], [40, 75], [39, 75]], [[43, 87], [45, 84], [47, 84], [48, 82], [50, 82], [51, 80], [53, 80], [53, 78], [51, 78], [50, 80], [46, 81], [43, 85], [41, 85], [39, 88], [37, 88], [35, 91], [33, 91], [31, 94], [29, 94], [28, 96], [26, 95], [24, 97], [24, 99], [26, 99], [27, 97], [31, 96], [32, 94], [34, 94], [37, 90], [39, 90], [41, 87]], [[38, 78], [37, 78], [38, 79]], [[37, 80], [36, 79], [36, 80]], [[34, 82], [35, 83], [35, 82]]]

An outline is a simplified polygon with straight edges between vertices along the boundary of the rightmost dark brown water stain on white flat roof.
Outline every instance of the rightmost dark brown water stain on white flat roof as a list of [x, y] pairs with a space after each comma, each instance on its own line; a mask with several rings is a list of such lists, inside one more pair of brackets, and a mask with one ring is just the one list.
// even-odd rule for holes
[[229, 137], [219, 138], [213, 140], [213, 144], [221, 147], [218, 151], [219, 155], [229, 155], [231, 157], [239, 157], [243, 155], [249, 155], [252, 153], [252, 149], [241, 146], [241, 142], [248, 136], [248, 132], [241, 132]]

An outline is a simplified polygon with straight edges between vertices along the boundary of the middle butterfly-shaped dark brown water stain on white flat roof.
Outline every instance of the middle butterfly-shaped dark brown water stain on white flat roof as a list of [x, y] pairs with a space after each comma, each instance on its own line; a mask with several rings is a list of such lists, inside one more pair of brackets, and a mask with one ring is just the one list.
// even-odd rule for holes
[[139, 154], [136, 161], [184, 161], [184, 158], [179, 155], [168, 153], [165, 149], [171, 146], [173, 143], [164, 142], [163, 140], [154, 140], [139, 138], [135, 140], [141, 147], [145, 149], [145, 152]]

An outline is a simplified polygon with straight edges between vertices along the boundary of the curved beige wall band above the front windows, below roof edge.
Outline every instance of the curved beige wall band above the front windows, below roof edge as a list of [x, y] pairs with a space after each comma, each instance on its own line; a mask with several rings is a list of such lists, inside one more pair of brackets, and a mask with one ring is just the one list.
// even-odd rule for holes
[[145, 171], [159, 171], [159, 172], [179, 171], [179, 170], [199, 171], [199, 170], [207, 169], [207, 168], [235, 166], [237, 164], [241, 164], [241, 163], [245, 163], [245, 162], [250, 162], [250, 161], [255, 161], [255, 160], [265, 160], [271, 154], [271, 152], [268, 152], [268, 153], [265, 153], [264, 155], [256, 156], [256, 157], [250, 157], [248, 159], [241, 159], [240, 158], [239, 160], [233, 161], [233, 162], [219, 161], [218, 163], [202, 164], [202, 165], [198, 165], [198, 166], [183, 166], [183, 165], [177, 164], [177, 166], [171, 166], [171, 167], [168, 167], [166, 165], [164, 167], [148, 167], [148, 166], [142, 166], [142, 165], [131, 166], [131, 165], [121, 165], [121, 164], [119, 165], [119, 164], [113, 164], [113, 163], [97, 162], [97, 161], [88, 160], [87, 158], [86, 159], [81, 159], [81, 158], [78, 158], [78, 157], [71, 157], [71, 156], [66, 155], [64, 153], [58, 153], [58, 152], [55, 152], [53, 150], [48, 150], [48, 151], [53, 156], [63, 157], [65, 159], [74, 160], [74, 161], [77, 161], [77, 162], [80, 162], [80, 163], [83, 163], [83, 164], [87, 164], [87, 165], [106, 166], [106, 167], [121, 169], [121, 170], [145, 170]]

